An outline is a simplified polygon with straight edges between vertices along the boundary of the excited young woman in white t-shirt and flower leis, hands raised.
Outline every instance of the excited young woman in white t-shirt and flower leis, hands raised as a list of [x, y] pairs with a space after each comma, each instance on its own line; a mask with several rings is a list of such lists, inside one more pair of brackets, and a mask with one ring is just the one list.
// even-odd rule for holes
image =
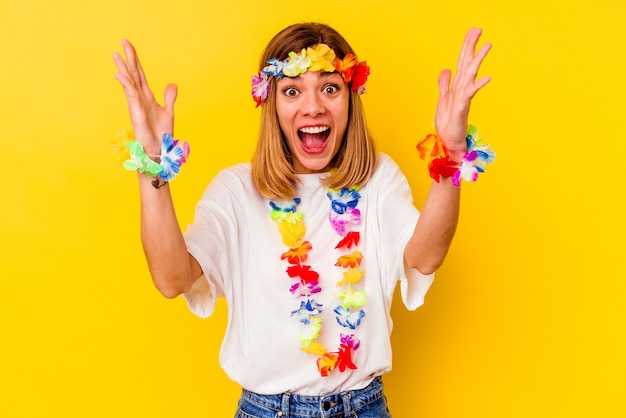
[[160, 106], [133, 46], [114, 54], [154, 284], [203, 317], [227, 299], [220, 363], [243, 387], [236, 416], [390, 416], [381, 376], [391, 369], [395, 286], [407, 308], [421, 305], [455, 233], [459, 176], [480, 168], [467, 138], [470, 102], [489, 81], [476, 80], [490, 48], [476, 51], [480, 34], [467, 33], [455, 77], [439, 77], [437, 135], [420, 146], [436, 181], [421, 214], [369, 135], [367, 63], [334, 29], [306, 23], [270, 41], [253, 77], [262, 117], [252, 162], [213, 179], [184, 234], [168, 183], [188, 153], [167, 135], [176, 86]]

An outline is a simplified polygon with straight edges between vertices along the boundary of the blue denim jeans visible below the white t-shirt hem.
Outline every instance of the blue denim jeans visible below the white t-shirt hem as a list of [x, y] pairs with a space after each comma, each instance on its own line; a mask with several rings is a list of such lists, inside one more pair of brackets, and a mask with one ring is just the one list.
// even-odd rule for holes
[[243, 390], [235, 418], [391, 418], [383, 382], [328, 396], [260, 395]]

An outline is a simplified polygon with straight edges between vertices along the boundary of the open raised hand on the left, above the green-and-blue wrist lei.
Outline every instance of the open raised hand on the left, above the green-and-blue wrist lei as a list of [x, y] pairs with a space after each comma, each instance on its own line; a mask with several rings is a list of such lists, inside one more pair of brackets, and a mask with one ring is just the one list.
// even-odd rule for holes
[[178, 88], [175, 84], [165, 88], [161, 106], [148, 86], [135, 48], [127, 40], [122, 41], [122, 47], [125, 58], [117, 52], [113, 54], [119, 71], [115, 78], [124, 88], [135, 139], [148, 155], [160, 155], [161, 137], [164, 133], [174, 134], [174, 102]]

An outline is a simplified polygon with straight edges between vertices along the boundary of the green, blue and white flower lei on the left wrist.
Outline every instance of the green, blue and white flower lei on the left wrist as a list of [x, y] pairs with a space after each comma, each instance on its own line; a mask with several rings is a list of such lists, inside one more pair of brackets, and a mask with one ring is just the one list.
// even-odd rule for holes
[[[125, 145], [130, 150], [130, 159], [124, 161], [124, 168], [138, 170], [148, 177], [156, 177], [152, 185], [157, 189], [174, 180], [189, 156], [189, 144], [174, 139], [168, 133], [164, 133], [161, 138], [161, 155], [146, 154], [138, 141], [129, 141]], [[152, 158], [158, 158], [159, 162]]]

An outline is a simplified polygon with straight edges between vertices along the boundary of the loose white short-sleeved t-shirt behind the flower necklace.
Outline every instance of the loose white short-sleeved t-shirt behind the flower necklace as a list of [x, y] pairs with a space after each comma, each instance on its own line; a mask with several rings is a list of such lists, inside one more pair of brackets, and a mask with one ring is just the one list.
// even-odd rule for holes
[[[320, 185], [326, 174], [300, 175], [298, 185], [306, 237], [313, 249], [306, 264], [320, 274], [321, 294], [315, 301], [324, 308], [323, 327], [316, 340], [334, 351], [339, 333], [360, 339], [352, 360], [356, 370], [331, 372], [321, 377], [316, 356], [300, 350], [301, 324], [291, 312], [299, 299], [289, 292], [293, 279], [288, 263], [281, 260], [287, 247], [271, 220], [269, 200], [252, 185], [250, 164], [221, 171], [197, 205], [194, 224], [185, 233], [189, 253], [204, 276], [184, 296], [192, 312], [207, 317], [217, 297], [228, 303], [228, 326], [220, 352], [220, 364], [242, 387], [257, 393], [292, 392], [325, 395], [361, 389], [391, 369], [391, 302], [400, 281], [408, 309], [423, 303], [434, 275], [422, 275], [404, 263], [403, 252], [419, 217], [411, 190], [396, 163], [379, 154], [376, 170], [360, 190], [359, 250], [363, 254], [359, 283], [367, 294], [361, 325], [346, 332], [335, 320], [339, 305], [335, 284], [342, 269], [337, 261], [338, 235], [328, 215], [330, 200]], [[362, 284], [361, 284], [362, 283]]]

